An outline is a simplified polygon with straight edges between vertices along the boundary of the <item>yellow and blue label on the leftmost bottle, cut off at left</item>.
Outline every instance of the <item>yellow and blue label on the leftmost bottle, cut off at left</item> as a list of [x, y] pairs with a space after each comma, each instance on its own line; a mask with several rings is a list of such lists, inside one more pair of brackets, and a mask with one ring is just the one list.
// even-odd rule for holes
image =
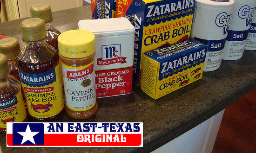
[[21, 90], [12, 99], [0, 102], [0, 128], [6, 128], [7, 122], [22, 122], [26, 116]]

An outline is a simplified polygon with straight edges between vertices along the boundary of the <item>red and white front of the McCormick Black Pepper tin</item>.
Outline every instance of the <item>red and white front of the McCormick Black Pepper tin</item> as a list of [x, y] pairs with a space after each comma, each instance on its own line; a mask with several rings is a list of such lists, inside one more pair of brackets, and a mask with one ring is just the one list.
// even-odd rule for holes
[[[121, 36], [118, 38], [121, 39]], [[98, 41], [100, 39], [97, 38]], [[104, 41], [106, 44], [96, 46], [99, 51], [96, 51], [94, 58], [96, 97], [129, 94], [132, 92], [133, 46], [115, 44], [113, 39]]]

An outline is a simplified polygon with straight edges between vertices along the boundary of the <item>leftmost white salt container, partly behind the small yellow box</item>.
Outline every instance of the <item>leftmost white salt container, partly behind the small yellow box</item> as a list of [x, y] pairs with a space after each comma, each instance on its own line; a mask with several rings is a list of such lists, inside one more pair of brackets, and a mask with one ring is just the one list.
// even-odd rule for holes
[[234, 0], [195, 0], [190, 37], [208, 45], [203, 71], [221, 65], [233, 5]]

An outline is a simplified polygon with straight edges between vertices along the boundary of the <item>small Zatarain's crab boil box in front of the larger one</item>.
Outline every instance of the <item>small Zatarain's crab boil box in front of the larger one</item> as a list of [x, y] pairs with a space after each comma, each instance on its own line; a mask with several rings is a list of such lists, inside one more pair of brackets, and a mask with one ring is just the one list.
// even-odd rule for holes
[[202, 78], [207, 45], [194, 39], [142, 55], [141, 89], [158, 99]]

